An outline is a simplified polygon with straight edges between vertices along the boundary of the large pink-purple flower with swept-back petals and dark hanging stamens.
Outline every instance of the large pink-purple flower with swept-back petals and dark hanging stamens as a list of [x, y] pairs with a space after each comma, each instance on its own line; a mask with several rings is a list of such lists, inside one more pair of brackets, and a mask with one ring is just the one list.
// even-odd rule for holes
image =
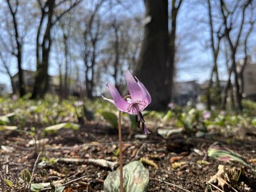
[[140, 127], [141, 123], [142, 129], [144, 130], [145, 134], [148, 134], [150, 132], [147, 130], [145, 120], [143, 119], [141, 111], [143, 111], [146, 106], [151, 103], [150, 93], [148, 93], [145, 86], [136, 77], [135, 78], [137, 81], [135, 80], [133, 75], [128, 70], [126, 70], [125, 72], [125, 78], [131, 95], [131, 99], [127, 99], [127, 101], [125, 101], [121, 97], [117, 89], [108, 82], [106, 82], [106, 87], [109, 89], [113, 100], [107, 99], [103, 96], [102, 98], [113, 103], [116, 108], [122, 112], [136, 114], [135, 118], [138, 127]]

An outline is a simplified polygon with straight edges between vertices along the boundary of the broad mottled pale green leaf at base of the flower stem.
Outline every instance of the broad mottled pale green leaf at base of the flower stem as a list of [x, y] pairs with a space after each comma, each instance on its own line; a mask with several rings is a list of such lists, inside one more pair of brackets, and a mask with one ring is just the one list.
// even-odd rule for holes
[[[124, 192], [144, 192], [150, 181], [150, 174], [140, 161], [133, 161], [123, 167]], [[120, 191], [120, 170], [112, 172], [104, 181], [104, 192]]]

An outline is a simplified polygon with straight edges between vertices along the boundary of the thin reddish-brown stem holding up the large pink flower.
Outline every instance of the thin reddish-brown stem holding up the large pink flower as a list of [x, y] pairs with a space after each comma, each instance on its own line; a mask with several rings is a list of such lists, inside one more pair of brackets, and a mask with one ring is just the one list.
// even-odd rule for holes
[[[123, 99], [131, 98], [126, 95]], [[122, 112], [118, 115], [118, 139], [119, 139], [119, 164], [120, 164], [120, 191], [123, 192], [123, 151], [122, 151], [122, 128], [121, 128]]]

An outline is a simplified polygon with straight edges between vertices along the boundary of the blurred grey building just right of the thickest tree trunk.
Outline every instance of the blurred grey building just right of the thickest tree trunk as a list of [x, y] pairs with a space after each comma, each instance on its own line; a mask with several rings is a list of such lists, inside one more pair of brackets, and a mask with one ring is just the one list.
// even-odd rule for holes
[[200, 86], [194, 81], [174, 83], [174, 102], [184, 106], [188, 101], [196, 103], [200, 95]]

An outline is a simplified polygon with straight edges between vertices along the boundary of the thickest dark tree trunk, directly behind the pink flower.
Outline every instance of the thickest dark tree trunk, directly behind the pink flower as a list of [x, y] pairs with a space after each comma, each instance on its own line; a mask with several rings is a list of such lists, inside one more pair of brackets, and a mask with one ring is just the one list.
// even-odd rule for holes
[[136, 76], [151, 94], [148, 109], [163, 110], [170, 100], [166, 81], [168, 57], [168, 1], [145, 0], [146, 17], [151, 21], [144, 27], [144, 38], [135, 69]]

